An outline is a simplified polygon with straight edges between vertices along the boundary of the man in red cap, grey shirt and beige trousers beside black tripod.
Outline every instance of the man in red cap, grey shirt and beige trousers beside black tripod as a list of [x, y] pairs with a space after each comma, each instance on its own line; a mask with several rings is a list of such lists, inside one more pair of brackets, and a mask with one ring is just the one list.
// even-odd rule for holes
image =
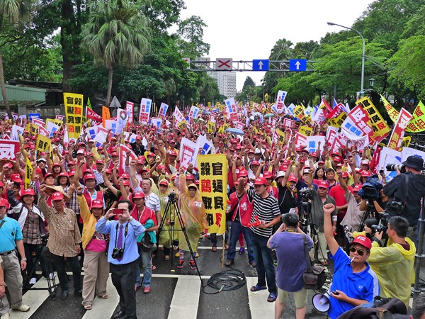
[[[305, 177], [304, 177], [305, 178]], [[320, 181], [319, 186], [317, 187], [317, 191], [313, 189], [313, 177], [312, 170], [310, 169], [310, 173], [307, 177], [307, 185], [309, 189], [312, 189], [312, 209], [310, 212], [310, 220], [314, 223], [314, 226], [317, 227], [317, 235], [319, 237], [319, 251], [318, 251], [318, 259], [319, 262], [327, 266], [327, 250], [326, 250], [326, 240], [324, 238], [324, 230], [323, 230], [323, 206], [331, 203], [334, 205], [334, 212], [332, 213], [332, 229], [334, 233], [336, 233], [336, 215], [338, 211], [336, 210], [335, 199], [328, 195], [329, 184], [327, 181]], [[311, 230], [312, 232], [314, 230]], [[315, 253], [315, 252], [314, 252]]]

